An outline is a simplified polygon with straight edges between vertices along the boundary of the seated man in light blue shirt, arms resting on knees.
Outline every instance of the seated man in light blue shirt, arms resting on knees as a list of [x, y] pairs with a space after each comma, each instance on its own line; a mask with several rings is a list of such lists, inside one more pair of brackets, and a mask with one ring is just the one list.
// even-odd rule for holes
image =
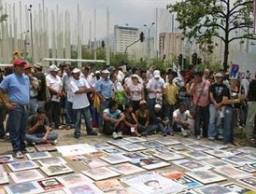
[[103, 120], [102, 132], [107, 135], [112, 134], [114, 139], [121, 139], [124, 114], [118, 109], [116, 101], [110, 101], [108, 108], [103, 112]]

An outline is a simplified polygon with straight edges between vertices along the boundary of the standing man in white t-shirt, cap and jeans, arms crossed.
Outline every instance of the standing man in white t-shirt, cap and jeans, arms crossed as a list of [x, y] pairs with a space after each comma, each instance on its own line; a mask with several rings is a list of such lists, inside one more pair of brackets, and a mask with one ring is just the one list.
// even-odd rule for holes
[[78, 68], [73, 69], [73, 77], [69, 83], [69, 89], [73, 92], [73, 110], [74, 110], [74, 123], [75, 123], [75, 138], [80, 137], [80, 122], [81, 114], [84, 117], [87, 135], [97, 135], [92, 131], [90, 103], [87, 98], [87, 93], [91, 91], [91, 87], [85, 78], [80, 77], [80, 70]]

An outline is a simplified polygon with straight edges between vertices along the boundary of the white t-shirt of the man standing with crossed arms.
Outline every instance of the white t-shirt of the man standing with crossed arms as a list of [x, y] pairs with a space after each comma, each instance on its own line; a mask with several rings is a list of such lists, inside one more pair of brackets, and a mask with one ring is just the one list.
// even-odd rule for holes
[[71, 78], [70, 83], [69, 83], [69, 88], [73, 92], [73, 109], [81, 109], [88, 107], [90, 105], [87, 94], [86, 93], [81, 93], [81, 94], [76, 94], [75, 92], [82, 89], [82, 88], [87, 88], [90, 89], [90, 85], [87, 82], [85, 78], [79, 78], [78, 80], [75, 79], [74, 77]]

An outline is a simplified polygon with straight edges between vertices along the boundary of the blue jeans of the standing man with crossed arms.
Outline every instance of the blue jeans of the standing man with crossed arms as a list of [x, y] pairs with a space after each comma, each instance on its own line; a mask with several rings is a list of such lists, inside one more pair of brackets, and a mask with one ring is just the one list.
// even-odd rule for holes
[[89, 106], [81, 109], [74, 109], [74, 123], [75, 123], [75, 133], [80, 132], [80, 125], [81, 125], [81, 115], [83, 115], [85, 126], [86, 126], [86, 132], [91, 133], [92, 132], [92, 122], [91, 122], [91, 113]]

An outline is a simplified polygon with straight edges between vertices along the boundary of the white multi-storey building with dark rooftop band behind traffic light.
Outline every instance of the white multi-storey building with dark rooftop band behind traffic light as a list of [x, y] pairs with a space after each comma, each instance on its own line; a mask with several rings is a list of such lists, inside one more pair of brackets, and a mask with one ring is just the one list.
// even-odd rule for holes
[[[133, 42], [139, 39], [139, 31], [137, 28], [129, 26], [114, 26], [114, 52], [125, 52], [125, 49]], [[127, 49], [127, 53], [137, 59], [136, 50], [139, 49], [140, 42], [135, 43], [131, 48]]]

